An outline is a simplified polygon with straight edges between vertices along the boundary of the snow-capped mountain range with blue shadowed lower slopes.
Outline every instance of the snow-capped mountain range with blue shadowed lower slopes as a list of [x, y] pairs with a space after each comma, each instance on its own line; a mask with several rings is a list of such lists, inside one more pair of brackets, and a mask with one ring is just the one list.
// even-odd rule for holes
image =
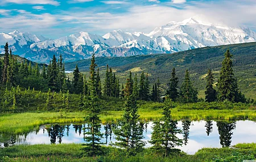
[[0, 45], [6, 41], [14, 53], [32, 61], [48, 62], [53, 55], [65, 61], [96, 56], [133, 56], [150, 53], [173, 53], [188, 49], [256, 41], [256, 33], [247, 27], [229, 27], [203, 22], [198, 18], [171, 21], [149, 34], [115, 30], [104, 36], [79, 32], [59, 39], [47, 39], [28, 32], [0, 34]]

